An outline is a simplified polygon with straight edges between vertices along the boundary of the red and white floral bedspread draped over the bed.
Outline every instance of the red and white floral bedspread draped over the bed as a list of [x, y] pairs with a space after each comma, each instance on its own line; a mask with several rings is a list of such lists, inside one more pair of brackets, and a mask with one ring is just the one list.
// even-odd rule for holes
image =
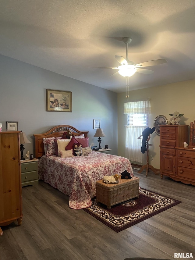
[[127, 158], [94, 151], [88, 156], [68, 158], [43, 155], [38, 163], [39, 180], [69, 195], [69, 207], [74, 209], [92, 205], [97, 180], [103, 179], [105, 175], [121, 174], [124, 170], [133, 176]]

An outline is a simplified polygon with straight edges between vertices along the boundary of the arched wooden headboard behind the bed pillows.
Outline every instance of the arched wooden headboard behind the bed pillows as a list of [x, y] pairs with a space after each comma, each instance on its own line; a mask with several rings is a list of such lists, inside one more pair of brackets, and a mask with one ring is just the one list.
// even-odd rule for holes
[[34, 134], [35, 137], [35, 158], [40, 158], [42, 155], [44, 155], [44, 145], [43, 145], [43, 138], [48, 138], [48, 137], [62, 137], [63, 133], [71, 130], [73, 135], [80, 135], [84, 134], [84, 137], [87, 137], [87, 132], [82, 132], [77, 130], [73, 126], [68, 126], [68, 125], [60, 125], [60, 126], [54, 126], [51, 128], [48, 132], [43, 133], [43, 134]]

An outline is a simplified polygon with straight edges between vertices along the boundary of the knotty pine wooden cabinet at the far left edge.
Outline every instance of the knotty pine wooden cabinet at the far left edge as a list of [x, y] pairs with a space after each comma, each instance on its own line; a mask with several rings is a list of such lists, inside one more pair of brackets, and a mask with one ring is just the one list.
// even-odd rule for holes
[[[0, 226], [22, 224], [19, 131], [0, 132]], [[2, 235], [0, 228], [0, 235]]]

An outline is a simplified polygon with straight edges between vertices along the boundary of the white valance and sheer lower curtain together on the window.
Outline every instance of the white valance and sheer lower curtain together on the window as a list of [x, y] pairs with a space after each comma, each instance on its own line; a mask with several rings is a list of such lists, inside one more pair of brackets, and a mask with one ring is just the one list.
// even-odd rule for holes
[[[150, 114], [150, 100], [124, 104], [124, 114]], [[137, 139], [147, 126], [126, 126], [125, 157], [133, 162], [146, 163], [146, 154], [141, 153], [141, 141]]]

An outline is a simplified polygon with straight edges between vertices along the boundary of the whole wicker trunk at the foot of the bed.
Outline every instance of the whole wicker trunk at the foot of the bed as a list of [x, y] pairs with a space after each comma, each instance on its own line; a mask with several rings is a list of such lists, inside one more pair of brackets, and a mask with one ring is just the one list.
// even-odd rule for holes
[[132, 198], [139, 198], [140, 179], [132, 176], [132, 179], [121, 179], [119, 183], [106, 184], [103, 180], [96, 181], [96, 201], [111, 208], [113, 205]]

